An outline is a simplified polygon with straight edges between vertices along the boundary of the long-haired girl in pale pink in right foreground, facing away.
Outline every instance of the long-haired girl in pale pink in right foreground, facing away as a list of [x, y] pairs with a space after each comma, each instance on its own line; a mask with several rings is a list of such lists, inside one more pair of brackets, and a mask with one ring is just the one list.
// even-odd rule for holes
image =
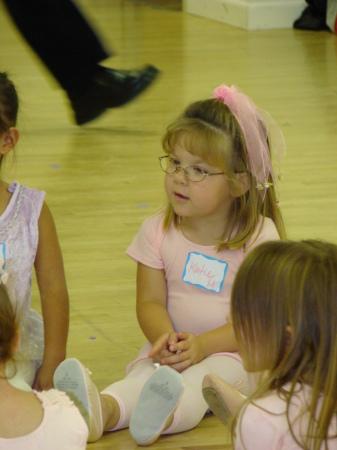
[[337, 246], [261, 244], [238, 271], [231, 312], [245, 369], [263, 375], [248, 398], [213, 374], [203, 392], [224, 423], [240, 410], [235, 449], [337, 449]]

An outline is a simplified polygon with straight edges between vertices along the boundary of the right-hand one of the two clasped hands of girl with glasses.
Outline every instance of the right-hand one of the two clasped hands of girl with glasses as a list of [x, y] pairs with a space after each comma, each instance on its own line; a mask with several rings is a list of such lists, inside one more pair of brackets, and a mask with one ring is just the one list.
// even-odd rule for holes
[[205, 358], [205, 350], [200, 336], [188, 332], [179, 332], [175, 336], [177, 342], [170, 343], [168, 350], [171, 355], [162, 358], [160, 361], [162, 365], [170, 366], [177, 372], [183, 372]]

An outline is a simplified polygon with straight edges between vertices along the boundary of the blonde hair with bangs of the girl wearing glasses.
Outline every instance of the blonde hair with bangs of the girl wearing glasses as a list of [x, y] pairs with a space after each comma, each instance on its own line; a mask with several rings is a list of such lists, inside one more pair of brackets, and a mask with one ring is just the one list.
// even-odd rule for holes
[[[249, 162], [244, 137], [234, 115], [221, 100], [209, 99], [189, 105], [185, 111], [170, 124], [162, 138], [162, 146], [167, 154], [174, 150], [179, 142], [191, 154], [200, 156], [204, 161], [221, 169], [227, 179], [233, 195], [229, 221], [224, 225], [219, 241], [219, 251], [238, 249], [246, 244], [258, 227], [260, 215], [271, 218], [281, 239], [285, 239], [285, 229], [274, 186], [266, 189], [264, 201], [256, 189], [256, 180], [249, 172]], [[249, 189], [242, 191], [238, 173], [247, 173]], [[272, 181], [272, 180], [268, 180]], [[164, 229], [171, 223], [179, 226], [177, 216], [168, 202], [165, 209]], [[263, 220], [261, 228], [263, 226]], [[257, 236], [259, 234], [258, 231]], [[256, 236], [256, 237], [257, 237]]]

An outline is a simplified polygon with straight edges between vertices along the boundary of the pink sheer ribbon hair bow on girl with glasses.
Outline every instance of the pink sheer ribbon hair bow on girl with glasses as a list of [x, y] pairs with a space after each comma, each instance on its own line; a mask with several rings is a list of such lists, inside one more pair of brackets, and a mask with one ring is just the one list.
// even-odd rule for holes
[[[286, 154], [286, 146], [280, 128], [267, 111], [258, 108], [234, 85], [231, 87], [225, 84], [218, 86], [213, 92], [213, 98], [222, 100], [240, 125], [246, 142], [250, 172], [256, 179], [256, 188], [260, 191], [262, 199], [264, 199], [266, 189], [271, 185], [274, 185], [279, 191], [268, 141], [276, 155], [279, 169], [278, 179], [281, 179], [280, 162]], [[273, 180], [272, 183], [268, 181], [270, 176]]]

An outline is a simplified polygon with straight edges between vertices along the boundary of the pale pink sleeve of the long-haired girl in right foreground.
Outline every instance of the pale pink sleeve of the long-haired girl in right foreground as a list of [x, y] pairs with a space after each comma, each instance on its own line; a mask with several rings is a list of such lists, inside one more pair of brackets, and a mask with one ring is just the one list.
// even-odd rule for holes
[[283, 430], [272, 415], [254, 405], [247, 405], [235, 429], [235, 450], [279, 450], [283, 447]]

